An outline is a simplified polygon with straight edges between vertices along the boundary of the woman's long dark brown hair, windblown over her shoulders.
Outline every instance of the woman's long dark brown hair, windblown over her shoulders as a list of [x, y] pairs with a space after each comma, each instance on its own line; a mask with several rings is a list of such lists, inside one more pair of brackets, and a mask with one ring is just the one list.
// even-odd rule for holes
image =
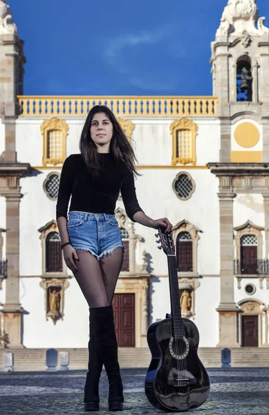
[[117, 161], [123, 161], [130, 172], [140, 176], [136, 169], [135, 163], [137, 163], [136, 154], [133, 151], [127, 136], [122, 131], [122, 127], [116, 120], [113, 112], [105, 105], [95, 105], [89, 112], [84, 127], [82, 129], [82, 135], [80, 137], [80, 152], [86, 162], [88, 169], [93, 174], [99, 174], [101, 170], [100, 163], [98, 162], [98, 151], [95, 142], [91, 139], [91, 122], [96, 113], [106, 113], [113, 125], [113, 136], [110, 143], [110, 152]]

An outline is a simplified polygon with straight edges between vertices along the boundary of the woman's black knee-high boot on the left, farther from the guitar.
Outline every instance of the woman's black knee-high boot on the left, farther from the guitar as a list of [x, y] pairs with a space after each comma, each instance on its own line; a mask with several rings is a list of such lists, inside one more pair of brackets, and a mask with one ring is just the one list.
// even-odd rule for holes
[[96, 333], [95, 314], [90, 309], [90, 340], [88, 372], [86, 374], [86, 383], [84, 387], [84, 410], [99, 410], [99, 381], [102, 372], [103, 362], [98, 351], [98, 337]]

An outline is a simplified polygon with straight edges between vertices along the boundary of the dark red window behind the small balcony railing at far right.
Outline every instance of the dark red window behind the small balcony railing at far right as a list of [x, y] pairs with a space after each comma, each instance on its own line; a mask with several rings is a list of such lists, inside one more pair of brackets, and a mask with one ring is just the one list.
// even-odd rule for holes
[[254, 235], [244, 235], [240, 239], [241, 274], [257, 274], [258, 241]]

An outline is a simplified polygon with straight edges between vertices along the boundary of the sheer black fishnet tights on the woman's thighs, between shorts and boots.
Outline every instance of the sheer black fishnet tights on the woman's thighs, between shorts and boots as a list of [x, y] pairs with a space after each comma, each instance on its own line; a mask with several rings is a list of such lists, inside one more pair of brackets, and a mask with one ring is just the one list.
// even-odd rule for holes
[[80, 260], [76, 261], [77, 272], [74, 275], [89, 308], [109, 306], [122, 268], [122, 247], [104, 255], [100, 261], [84, 250], [78, 249], [77, 255]]

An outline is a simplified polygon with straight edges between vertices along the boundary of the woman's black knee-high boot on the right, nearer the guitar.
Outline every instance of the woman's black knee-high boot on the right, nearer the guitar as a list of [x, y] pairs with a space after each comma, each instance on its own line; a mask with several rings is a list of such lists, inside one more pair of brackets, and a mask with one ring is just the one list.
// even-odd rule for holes
[[112, 306], [92, 308], [98, 324], [98, 347], [107, 377], [109, 378], [109, 411], [123, 410], [122, 378], [118, 363], [118, 343], [115, 335], [115, 325]]

